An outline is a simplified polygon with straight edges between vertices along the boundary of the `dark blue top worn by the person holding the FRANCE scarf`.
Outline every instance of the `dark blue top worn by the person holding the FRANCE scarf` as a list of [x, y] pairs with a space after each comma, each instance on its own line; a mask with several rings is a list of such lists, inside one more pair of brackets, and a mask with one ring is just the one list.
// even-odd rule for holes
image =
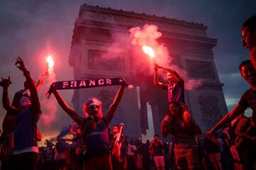
[[104, 154], [110, 154], [110, 130], [107, 127], [107, 120], [85, 119], [83, 124], [87, 121], [90, 121], [91, 129], [83, 132], [82, 137], [90, 156], [101, 157]]

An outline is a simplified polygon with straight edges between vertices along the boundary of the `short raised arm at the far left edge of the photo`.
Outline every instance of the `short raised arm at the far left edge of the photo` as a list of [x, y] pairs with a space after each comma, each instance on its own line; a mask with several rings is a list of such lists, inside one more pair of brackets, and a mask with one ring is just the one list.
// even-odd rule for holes
[[2, 96], [3, 107], [6, 111], [17, 111], [17, 108], [15, 108], [14, 106], [11, 106], [10, 99], [9, 99], [8, 88], [11, 84], [10, 77], [8, 77], [8, 79], [4, 79], [3, 77], [1, 77], [1, 79], [2, 80], [0, 84], [3, 87], [3, 96]]

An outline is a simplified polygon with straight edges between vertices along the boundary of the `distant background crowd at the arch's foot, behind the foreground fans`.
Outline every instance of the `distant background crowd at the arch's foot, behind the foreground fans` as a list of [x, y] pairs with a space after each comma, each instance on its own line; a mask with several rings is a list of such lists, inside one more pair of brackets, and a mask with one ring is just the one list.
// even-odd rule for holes
[[[237, 123], [236, 120], [236, 125]], [[119, 127], [114, 125], [111, 133], [112, 169], [174, 170], [179, 169], [178, 166], [188, 166], [191, 161], [193, 163], [195, 160], [196, 167], [191, 169], [239, 169], [237, 168], [239, 167], [239, 162], [235, 159], [237, 155], [232, 152], [232, 146], [230, 146], [230, 143], [234, 141], [230, 140], [229, 137], [234, 139], [235, 136], [234, 128], [230, 128], [232, 126], [226, 126], [223, 128], [223, 132], [213, 135], [210, 140], [204, 139], [202, 136], [195, 136], [195, 145], [191, 147], [191, 150], [195, 150], [195, 153], [188, 155], [181, 154], [181, 149], [175, 149], [178, 146], [175, 146], [174, 137], [171, 138], [170, 142], [163, 142], [159, 139], [159, 135], [154, 135], [154, 140], [146, 140], [145, 143], [142, 142], [142, 139], [128, 140], [127, 137], [122, 136], [122, 145], [117, 149], [119, 154], [114, 153], [114, 143], [116, 142], [114, 131]], [[124, 134], [122, 133], [122, 135]], [[38, 149], [39, 157], [36, 169], [80, 170], [82, 169], [83, 160], [80, 153], [82, 147], [80, 131], [77, 131], [76, 135], [71, 139], [58, 137], [58, 142], [56, 143], [46, 140], [46, 147], [39, 147]], [[1, 146], [1, 163], [8, 161], [7, 158], [11, 157], [8, 154], [4, 147]], [[181, 169], [186, 168], [183, 167]]]

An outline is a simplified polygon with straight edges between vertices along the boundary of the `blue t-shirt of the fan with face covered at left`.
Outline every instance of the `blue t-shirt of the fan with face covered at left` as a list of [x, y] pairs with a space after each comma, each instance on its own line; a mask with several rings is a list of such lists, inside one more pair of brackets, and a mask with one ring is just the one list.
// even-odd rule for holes
[[14, 129], [14, 149], [37, 147], [37, 123], [41, 113], [32, 113], [31, 107], [18, 112]]

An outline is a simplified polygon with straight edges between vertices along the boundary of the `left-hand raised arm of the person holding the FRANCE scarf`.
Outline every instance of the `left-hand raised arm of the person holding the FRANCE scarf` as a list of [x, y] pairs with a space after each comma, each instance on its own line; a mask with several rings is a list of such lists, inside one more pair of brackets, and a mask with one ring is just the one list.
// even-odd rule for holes
[[68, 113], [68, 115], [70, 116], [70, 118], [72, 118], [75, 123], [78, 123], [78, 125], [81, 127], [82, 125], [82, 120], [83, 117], [81, 115], [79, 115], [78, 113], [76, 113], [73, 108], [70, 108], [70, 106], [68, 106], [68, 103], [66, 103], [63, 99], [62, 96], [60, 96], [59, 92], [56, 91], [55, 89], [52, 90], [53, 94], [55, 96], [55, 98], [57, 99], [59, 105], [61, 108], [63, 108], [63, 111], [65, 111], [66, 113]]

